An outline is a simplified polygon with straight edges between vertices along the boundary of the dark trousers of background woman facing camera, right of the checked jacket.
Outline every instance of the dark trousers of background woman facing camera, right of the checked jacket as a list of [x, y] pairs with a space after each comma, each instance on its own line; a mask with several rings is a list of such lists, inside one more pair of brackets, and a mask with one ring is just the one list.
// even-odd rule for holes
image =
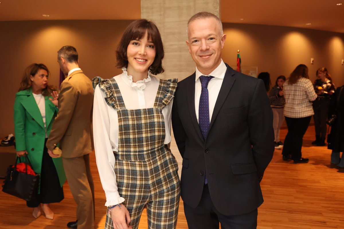
[[326, 120], [329, 113], [329, 99], [317, 99], [313, 102], [315, 135], [326, 138]]

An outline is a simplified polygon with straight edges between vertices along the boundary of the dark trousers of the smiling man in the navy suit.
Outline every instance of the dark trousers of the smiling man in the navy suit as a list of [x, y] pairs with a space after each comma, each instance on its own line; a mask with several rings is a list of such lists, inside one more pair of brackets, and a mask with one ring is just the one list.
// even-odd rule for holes
[[257, 209], [244, 215], [223, 215], [215, 209], [208, 185], [204, 185], [201, 201], [196, 208], [192, 208], [184, 202], [184, 213], [189, 229], [218, 229], [219, 223], [221, 223], [222, 229], [257, 228]]

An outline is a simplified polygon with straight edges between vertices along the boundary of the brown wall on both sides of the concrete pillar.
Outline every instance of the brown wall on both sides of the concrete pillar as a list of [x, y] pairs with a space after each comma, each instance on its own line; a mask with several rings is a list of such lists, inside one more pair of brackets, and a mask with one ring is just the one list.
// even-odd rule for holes
[[[130, 22], [0, 22], [0, 138], [13, 133], [14, 94], [26, 66], [33, 62], [44, 63], [51, 71], [50, 83], [57, 85], [59, 67], [56, 52], [64, 45], [73, 45], [79, 52], [80, 67], [89, 78], [115, 76], [120, 73], [114, 67], [116, 46]], [[224, 24], [224, 32], [227, 39], [223, 59], [229, 65], [236, 65], [236, 50], [240, 49], [242, 65], [258, 66], [258, 72], [270, 72], [272, 83], [277, 76], [288, 76], [303, 63], [309, 67], [312, 81], [316, 69], [326, 66], [334, 83], [344, 84], [344, 66], [341, 65], [344, 34], [229, 23]], [[178, 39], [185, 44], [184, 36]], [[186, 45], [184, 47], [187, 48]], [[314, 65], [310, 64], [311, 58], [315, 60]]]

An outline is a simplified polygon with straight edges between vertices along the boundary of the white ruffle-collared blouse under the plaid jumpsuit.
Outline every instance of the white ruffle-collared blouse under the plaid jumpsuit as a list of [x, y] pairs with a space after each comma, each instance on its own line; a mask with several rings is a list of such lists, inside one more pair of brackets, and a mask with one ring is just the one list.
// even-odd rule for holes
[[[159, 88], [160, 80], [150, 76], [137, 82], [132, 81], [125, 68], [123, 73], [115, 76], [124, 104], [128, 110], [151, 108]], [[122, 203], [125, 199], [120, 197], [117, 189], [116, 174], [114, 171], [115, 156], [118, 151], [118, 115], [117, 110], [105, 102], [105, 93], [96, 87], [93, 103], [93, 135], [96, 152], [96, 162], [99, 177], [105, 191], [105, 206]], [[171, 141], [171, 101], [162, 109], [165, 120], [164, 144]]]

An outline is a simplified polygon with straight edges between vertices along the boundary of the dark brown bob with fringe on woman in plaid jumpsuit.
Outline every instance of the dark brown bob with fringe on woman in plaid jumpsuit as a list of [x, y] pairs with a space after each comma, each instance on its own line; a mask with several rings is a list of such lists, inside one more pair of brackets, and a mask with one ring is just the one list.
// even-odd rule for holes
[[164, 46], [162, 45], [158, 27], [146, 19], [138, 19], [131, 22], [121, 38], [116, 51], [117, 68], [128, 67], [127, 48], [132, 40], [139, 40], [144, 37], [147, 31], [147, 39], [153, 42], [155, 47], [155, 58], [153, 64], [148, 68], [153, 75], [163, 73], [162, 59], [164, 58]]

